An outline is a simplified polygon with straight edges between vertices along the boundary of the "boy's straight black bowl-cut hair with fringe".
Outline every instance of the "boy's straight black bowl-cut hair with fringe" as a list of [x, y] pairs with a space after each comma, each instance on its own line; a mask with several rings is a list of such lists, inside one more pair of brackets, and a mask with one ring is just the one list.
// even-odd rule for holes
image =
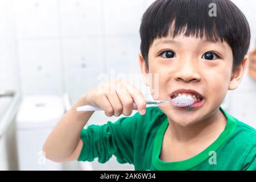
[[[210, 16], [210, 3], [217, 16]], [[250, 45], [250, 27], [245, 15], [230, 0], [157, 0], [143, 14], [141, 53], [148, 68], [148, 51], [154, 39], [184, 33], [213, 42], [226, 42], [233, 52], [233, 71]]]

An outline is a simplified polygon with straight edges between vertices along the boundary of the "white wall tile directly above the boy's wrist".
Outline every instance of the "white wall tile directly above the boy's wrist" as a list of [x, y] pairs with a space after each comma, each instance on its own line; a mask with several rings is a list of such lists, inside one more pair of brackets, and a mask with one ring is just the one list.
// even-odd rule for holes
[[97, 78], [104, 72], [103, 56], [100, 38], [63, 40], [65, 89], [71, 94], [72, 102], [100, 83]]

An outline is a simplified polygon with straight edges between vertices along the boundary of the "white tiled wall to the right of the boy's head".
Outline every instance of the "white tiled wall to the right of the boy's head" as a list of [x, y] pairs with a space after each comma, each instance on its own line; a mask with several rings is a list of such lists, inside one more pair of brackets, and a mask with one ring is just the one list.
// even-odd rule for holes
[[[250, 51], [256, 48], [256, 1], [233, 0], [245, 14], [251, 28]], [[246, 73], [238, 89], [230, 91], [229, 113], [256, 128], [256, 80]]]

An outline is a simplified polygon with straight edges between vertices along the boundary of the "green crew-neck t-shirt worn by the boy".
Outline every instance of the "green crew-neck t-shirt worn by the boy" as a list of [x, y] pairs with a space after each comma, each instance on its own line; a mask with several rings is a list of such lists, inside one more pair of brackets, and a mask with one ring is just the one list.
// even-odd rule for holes
[[187, 160], [163, 162], [159, 156], [168, 119], [158, 107], [144, 115], [119, 118], [105, 125], [90, 125], [81, 132], [84, 142], [79, 161], [119, 163], [135, 170], [256, 170], [256, 130], [220, 110], [227, 118], [225, 130], [204, 151]]

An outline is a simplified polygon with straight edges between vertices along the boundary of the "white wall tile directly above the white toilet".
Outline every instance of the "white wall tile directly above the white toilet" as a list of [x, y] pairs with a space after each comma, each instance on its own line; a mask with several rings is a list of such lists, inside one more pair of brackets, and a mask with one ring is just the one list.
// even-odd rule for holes
[[20, 40], [19, 61], [23, 94], [63, 94], [59, 40]]

